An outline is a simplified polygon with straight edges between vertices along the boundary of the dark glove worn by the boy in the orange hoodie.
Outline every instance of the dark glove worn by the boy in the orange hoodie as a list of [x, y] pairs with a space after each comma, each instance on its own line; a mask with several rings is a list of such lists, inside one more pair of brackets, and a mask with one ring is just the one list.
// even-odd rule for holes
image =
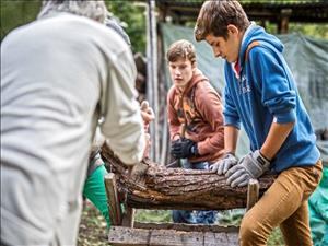
[[178, 139], [171, 144], [171, 154], [176, 159], [187, 159], [198, 154], [197, 143], [190, 139]]

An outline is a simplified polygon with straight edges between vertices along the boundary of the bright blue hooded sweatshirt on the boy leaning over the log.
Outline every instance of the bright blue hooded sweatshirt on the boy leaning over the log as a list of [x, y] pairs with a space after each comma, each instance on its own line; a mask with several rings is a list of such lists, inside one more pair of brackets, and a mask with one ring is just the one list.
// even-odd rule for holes
[[[246, 54], [254, 42], [257, 45]], [[262, 147], [273, 121], [295, 122], [271, 162], [271, 169], [277, 173], [292, 166], [315, 165], [319, 159], [309, 117], [282, 50], [283, 45], [277, 37], [251, 24], [239, 49], [239, 74], [232, 63], [225, 62], [224, 67], [225, 125], [239, 129], [242, 122], [251, 151]]]

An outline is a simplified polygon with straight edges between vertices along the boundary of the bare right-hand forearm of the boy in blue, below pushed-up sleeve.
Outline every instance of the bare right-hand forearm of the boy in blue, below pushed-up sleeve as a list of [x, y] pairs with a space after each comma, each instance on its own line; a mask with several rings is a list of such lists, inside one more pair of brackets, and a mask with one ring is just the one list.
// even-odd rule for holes
[[293, 127], [294, 122], [272, 122], [268, 137], [260, 149], [261, 154], [265, 155], [268, 160], [272, 160], [292, 131]]

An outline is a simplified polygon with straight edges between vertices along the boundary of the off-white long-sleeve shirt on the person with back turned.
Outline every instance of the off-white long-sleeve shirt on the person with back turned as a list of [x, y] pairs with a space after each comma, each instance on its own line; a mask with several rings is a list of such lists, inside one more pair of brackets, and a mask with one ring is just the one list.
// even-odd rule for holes
[[136, 67], [121, 37], [68, 13], [1, 44], [1, 242], [74, 245], [96, 122], [127, 164], [144, 133]]

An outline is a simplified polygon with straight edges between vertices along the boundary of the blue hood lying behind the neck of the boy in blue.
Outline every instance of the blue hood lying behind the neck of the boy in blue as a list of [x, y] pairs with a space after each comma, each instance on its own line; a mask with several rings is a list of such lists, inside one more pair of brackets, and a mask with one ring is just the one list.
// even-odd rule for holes
[[242, 69], [245, 63], [246, 50], [253, 42], [258, 42], [260, 46], [274, 49], [278, 52], [282, 52], [284, 48], [283, 44], [276, 36], [266, 33], [263, 27], [251, 23], [246, 30], [241, 45], [238, 61]]

